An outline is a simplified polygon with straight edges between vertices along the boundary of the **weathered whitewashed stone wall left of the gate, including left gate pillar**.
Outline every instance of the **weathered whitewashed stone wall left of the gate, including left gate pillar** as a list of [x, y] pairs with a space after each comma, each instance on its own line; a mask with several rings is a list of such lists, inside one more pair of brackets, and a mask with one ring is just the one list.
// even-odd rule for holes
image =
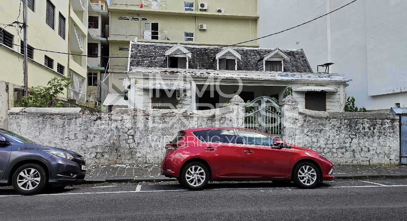
[[88, 165], [161, 163], [165, 144], [179, 130], [244, 126], [239, 96], [230, 106], [209, 111], [117, 109], [114, 115], [83, 115], [14, 109], [17, 112], [9, 112], [11, 131], [42, 145], [79, 152]]

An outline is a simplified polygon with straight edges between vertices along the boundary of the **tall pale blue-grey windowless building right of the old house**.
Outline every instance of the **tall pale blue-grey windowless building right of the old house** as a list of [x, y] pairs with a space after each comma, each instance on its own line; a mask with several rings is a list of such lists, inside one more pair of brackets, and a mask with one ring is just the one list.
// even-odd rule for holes
[[[350, 2], [259, 0], [258, 36], [297, 26]], [[358, 107], [388, 112], [391, 107], [407, 107], [406, 11], [405, 0], [358, 0], [258, 43], [295, 48], [300, 42], [315, 72], [317, 65], [335, 63], [330, 72], [353, 79], [346, 95], [353, 96]]]

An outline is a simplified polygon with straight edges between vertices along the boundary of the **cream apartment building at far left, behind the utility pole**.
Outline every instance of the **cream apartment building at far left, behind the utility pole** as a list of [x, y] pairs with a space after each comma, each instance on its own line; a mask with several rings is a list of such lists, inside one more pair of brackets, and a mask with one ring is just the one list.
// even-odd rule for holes
[[[5, 27], [0, 32], [0, 80], [16, 85], [23, 85], [23, 32], [3, 24], [23, 22], [22, 8], [20, 1], [0, 6], [0, 27]], [[63, 96], [84, 100], [88, 1], [28, 0], [27, 18], [28, 87], [46, 85], [55, 76], [70, 76], [74, 83]]]

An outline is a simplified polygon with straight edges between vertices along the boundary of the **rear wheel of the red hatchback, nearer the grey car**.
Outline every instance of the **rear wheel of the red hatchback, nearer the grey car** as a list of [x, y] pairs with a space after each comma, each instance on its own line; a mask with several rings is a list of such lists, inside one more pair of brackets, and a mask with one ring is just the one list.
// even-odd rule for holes
[[203, 163], [191, 162], [182, 169], [179, 180], [187, 189], [201, 190], [208, 184], [209, 174], [208, 168]]

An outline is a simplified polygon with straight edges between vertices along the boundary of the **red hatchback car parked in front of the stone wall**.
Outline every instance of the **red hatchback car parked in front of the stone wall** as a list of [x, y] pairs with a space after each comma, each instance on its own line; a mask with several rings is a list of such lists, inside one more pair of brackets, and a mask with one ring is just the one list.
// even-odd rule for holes
[[323, 154], [246, 128], [179, 131], [166, 145], [161, 173], [191, 190], [209, 180], [291, 180], [304, 189], [333, 179]]

